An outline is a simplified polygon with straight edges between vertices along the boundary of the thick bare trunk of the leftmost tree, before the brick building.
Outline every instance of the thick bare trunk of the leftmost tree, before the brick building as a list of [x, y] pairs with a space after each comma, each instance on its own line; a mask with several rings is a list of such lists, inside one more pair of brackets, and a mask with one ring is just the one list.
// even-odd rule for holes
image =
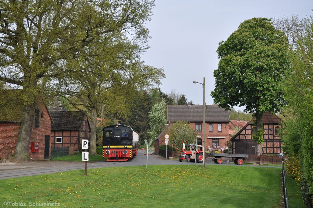
[[29, 160], [29, 142], [33, 127], [35, 114], [35, 103], [24, 106], [23, 117], [18, 133], [18, 143], [12, 157], [13, 162], [23, 162]]

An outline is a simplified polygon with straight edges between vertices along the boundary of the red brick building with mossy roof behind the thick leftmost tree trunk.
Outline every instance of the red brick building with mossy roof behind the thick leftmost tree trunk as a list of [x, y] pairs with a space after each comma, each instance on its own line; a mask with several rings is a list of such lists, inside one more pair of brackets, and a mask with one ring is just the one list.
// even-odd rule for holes
[[[10, 159], [15, 151], [23, 116], [23, 104], [17, 99], [19, 91], [14, 90], [12, 92], [16, 94], [14, 99], [10, 98], [12, 96], [6, 96], [0, 111], [0, 158], [2, 159]], [[36, 160], [49, 159], [52, 118], [41, 98], [35, 108], [29, 143], [29, 157]], [[32, 142], [39, 143], [38, 152], [31, 151]]]

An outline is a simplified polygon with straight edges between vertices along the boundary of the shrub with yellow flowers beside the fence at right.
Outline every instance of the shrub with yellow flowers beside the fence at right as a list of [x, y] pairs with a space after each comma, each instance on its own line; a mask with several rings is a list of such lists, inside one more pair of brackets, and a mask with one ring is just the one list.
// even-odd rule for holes
[[290, 177], [295, 179], [297, 182], [300, 182], [300, 179], [302, 178], [299, 159], [299, 155], [293, 153], [292, 156], [288, 157], [288, 161], [285, 162], [285, 170], [290, 175]]

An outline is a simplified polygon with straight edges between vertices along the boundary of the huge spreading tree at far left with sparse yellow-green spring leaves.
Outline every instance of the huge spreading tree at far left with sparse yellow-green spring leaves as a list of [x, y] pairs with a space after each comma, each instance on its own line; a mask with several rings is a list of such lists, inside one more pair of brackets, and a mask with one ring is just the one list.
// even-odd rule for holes
[[145, 31], [153, 6], [149, 0], [0, 1], [0, 81], [20, 86], [24, 104], [14, 161], [29, 158], [35, 103], [44, 78], [63, 74], [69, 59], [105, 35]]

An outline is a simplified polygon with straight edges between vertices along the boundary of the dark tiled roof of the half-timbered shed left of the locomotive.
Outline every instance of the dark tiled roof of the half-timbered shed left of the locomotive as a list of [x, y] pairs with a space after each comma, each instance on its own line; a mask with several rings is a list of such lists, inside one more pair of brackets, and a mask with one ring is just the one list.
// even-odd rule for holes
[[85, 118], [85, 114], [80, 111], [58, 111], [50, 114], [54, 121], [52, 131], [79, 130]]

